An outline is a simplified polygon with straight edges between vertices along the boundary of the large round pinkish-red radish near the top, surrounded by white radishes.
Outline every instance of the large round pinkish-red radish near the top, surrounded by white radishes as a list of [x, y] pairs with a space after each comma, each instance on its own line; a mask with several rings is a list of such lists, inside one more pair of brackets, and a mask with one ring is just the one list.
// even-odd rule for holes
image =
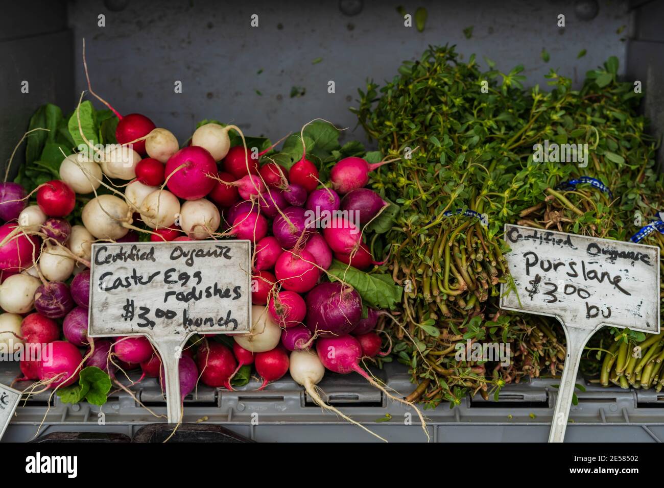
[[198, 200], [214, 187], [214, 179], [208, 175], [216, 174], [216, 163], [203, 147], [192, 145], [169, 157], [165, 171], [166, 185], [174, 195], [185, 200]]

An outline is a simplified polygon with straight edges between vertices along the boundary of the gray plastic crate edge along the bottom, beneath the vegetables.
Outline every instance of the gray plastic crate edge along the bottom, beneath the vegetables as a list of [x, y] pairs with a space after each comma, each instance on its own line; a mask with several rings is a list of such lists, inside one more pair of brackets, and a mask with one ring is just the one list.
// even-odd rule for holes
[[[11, 382], [16, 370], [3, 371], [0, 381]], [[389, 388], [407, 394], [412, 390], [400, 365], [386, 365], [376, 375]], [[578, 382], [582, 382], [579, 378]], [[499, 402], [465, 398], [450, 409], [441, 404], [426, 410], [434, 442], [546, 442], [555, 402], [557, 380], [537, 379], [503, 388]], [[252, 380], [238, 391], [199, 387], [185, 399], [183, 422], [217, 424], [258, 442], [373, 442], [357, 426], [322, 412], [290, 378], [255, 391]], [[426, 437], [412, 410], [392, 402], [367, 385], [358, 374], [329, 374], [319, 384], [329, 402], [391, 442], [424, 442]], [[600, 388], [588, 385], [572, 406], [567, 442], [660, 442], [664, 440], [664, 394], [650, 391]], [[153, 412], [166, 408], [157, 382], [150, 378], [132, 387], [137, 398]], [[109, 432], [129, 438], [147, 425], [163, 421], [149, 414], [124, 392], [114, 394], [101, 409], [88, 404], [66, 405], [48, 393], [21, 404], [5, 432], [3, 442], [27, 442], [52, 432]], [[44, 413], [48, 414], [44, 419]], [[100, 411], [103, 416], [100, 415]], [[390, 414], [392, 420], [376, 422]], [[412, 424], [406, 425], [406, 418]], [[103, 419], [103, 423], [102, 423]]]

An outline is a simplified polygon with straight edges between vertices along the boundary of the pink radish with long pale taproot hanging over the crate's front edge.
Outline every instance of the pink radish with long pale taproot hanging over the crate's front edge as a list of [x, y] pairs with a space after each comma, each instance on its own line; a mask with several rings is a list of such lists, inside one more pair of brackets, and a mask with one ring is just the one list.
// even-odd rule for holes
[[362, 347], [355, 337], [352, 335], [321, 337], [316, 342], [316, 352], [318, 354], [318, 359], [321, 360], [321, 363], [323, 363], [325, 368], [332, 372], [338, 372], [339, 374], [349, 374], [350, 372], [355, 371], [371, 383], [372, 386], [382, 391], [388, 398], [414, 408], [420, 418], [420, 422], [422, 422], [422, 430], [424, 430], [427, 440], [430, 440], [429, 432], [426, 428], [426, 422], [424, 422], [424, 416], [422, 416], [420, 409], [412, 404], [412, 402], [408, 402], [408, 400], [404, 400], [403, 398], [399, 398], [388, 392], [384, 386], [378, 384], [369, 373], [360, 367], [359, 362], [362, 358]]

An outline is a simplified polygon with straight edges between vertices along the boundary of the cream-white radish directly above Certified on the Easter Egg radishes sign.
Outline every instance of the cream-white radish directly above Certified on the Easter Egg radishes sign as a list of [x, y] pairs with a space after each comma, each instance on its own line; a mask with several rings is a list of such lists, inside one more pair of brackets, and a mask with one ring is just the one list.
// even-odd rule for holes
[[131, 224], [131, 210], [114, 195], [100, 195], [83, 207], [81, 219], [85, 228], [99, 239], [116, 240], [124, 237]]

